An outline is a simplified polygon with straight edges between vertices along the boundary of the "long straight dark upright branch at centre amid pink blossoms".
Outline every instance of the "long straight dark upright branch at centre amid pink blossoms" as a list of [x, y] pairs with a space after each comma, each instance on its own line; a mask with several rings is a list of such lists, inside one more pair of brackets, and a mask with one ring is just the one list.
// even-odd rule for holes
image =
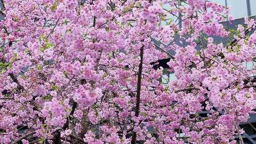
[[[144, 45], [140, 48], [140, 63], [138, 69], [138, 79], [137, 79], [137, 90], [136, 90], [136, 109], [135, 117], [139, 115], [139, 104], [140, 104], [140, 89], [141, 89], [141, 76], [142, 76], [142, 64], [143, 64], [143, 54], [144, 54]], [[131, 144], [136, 144], [136, 132], [132, 132]]]

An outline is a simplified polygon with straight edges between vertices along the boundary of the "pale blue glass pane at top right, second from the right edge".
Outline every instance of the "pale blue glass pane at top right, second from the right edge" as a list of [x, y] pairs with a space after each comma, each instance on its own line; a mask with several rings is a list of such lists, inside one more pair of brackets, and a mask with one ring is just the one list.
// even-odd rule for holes
[[248, 16], [247, 0], [227, 0], [227, 5], [231, 9], [229, 14], [232, 15], [233, 18], [236, 19]]

